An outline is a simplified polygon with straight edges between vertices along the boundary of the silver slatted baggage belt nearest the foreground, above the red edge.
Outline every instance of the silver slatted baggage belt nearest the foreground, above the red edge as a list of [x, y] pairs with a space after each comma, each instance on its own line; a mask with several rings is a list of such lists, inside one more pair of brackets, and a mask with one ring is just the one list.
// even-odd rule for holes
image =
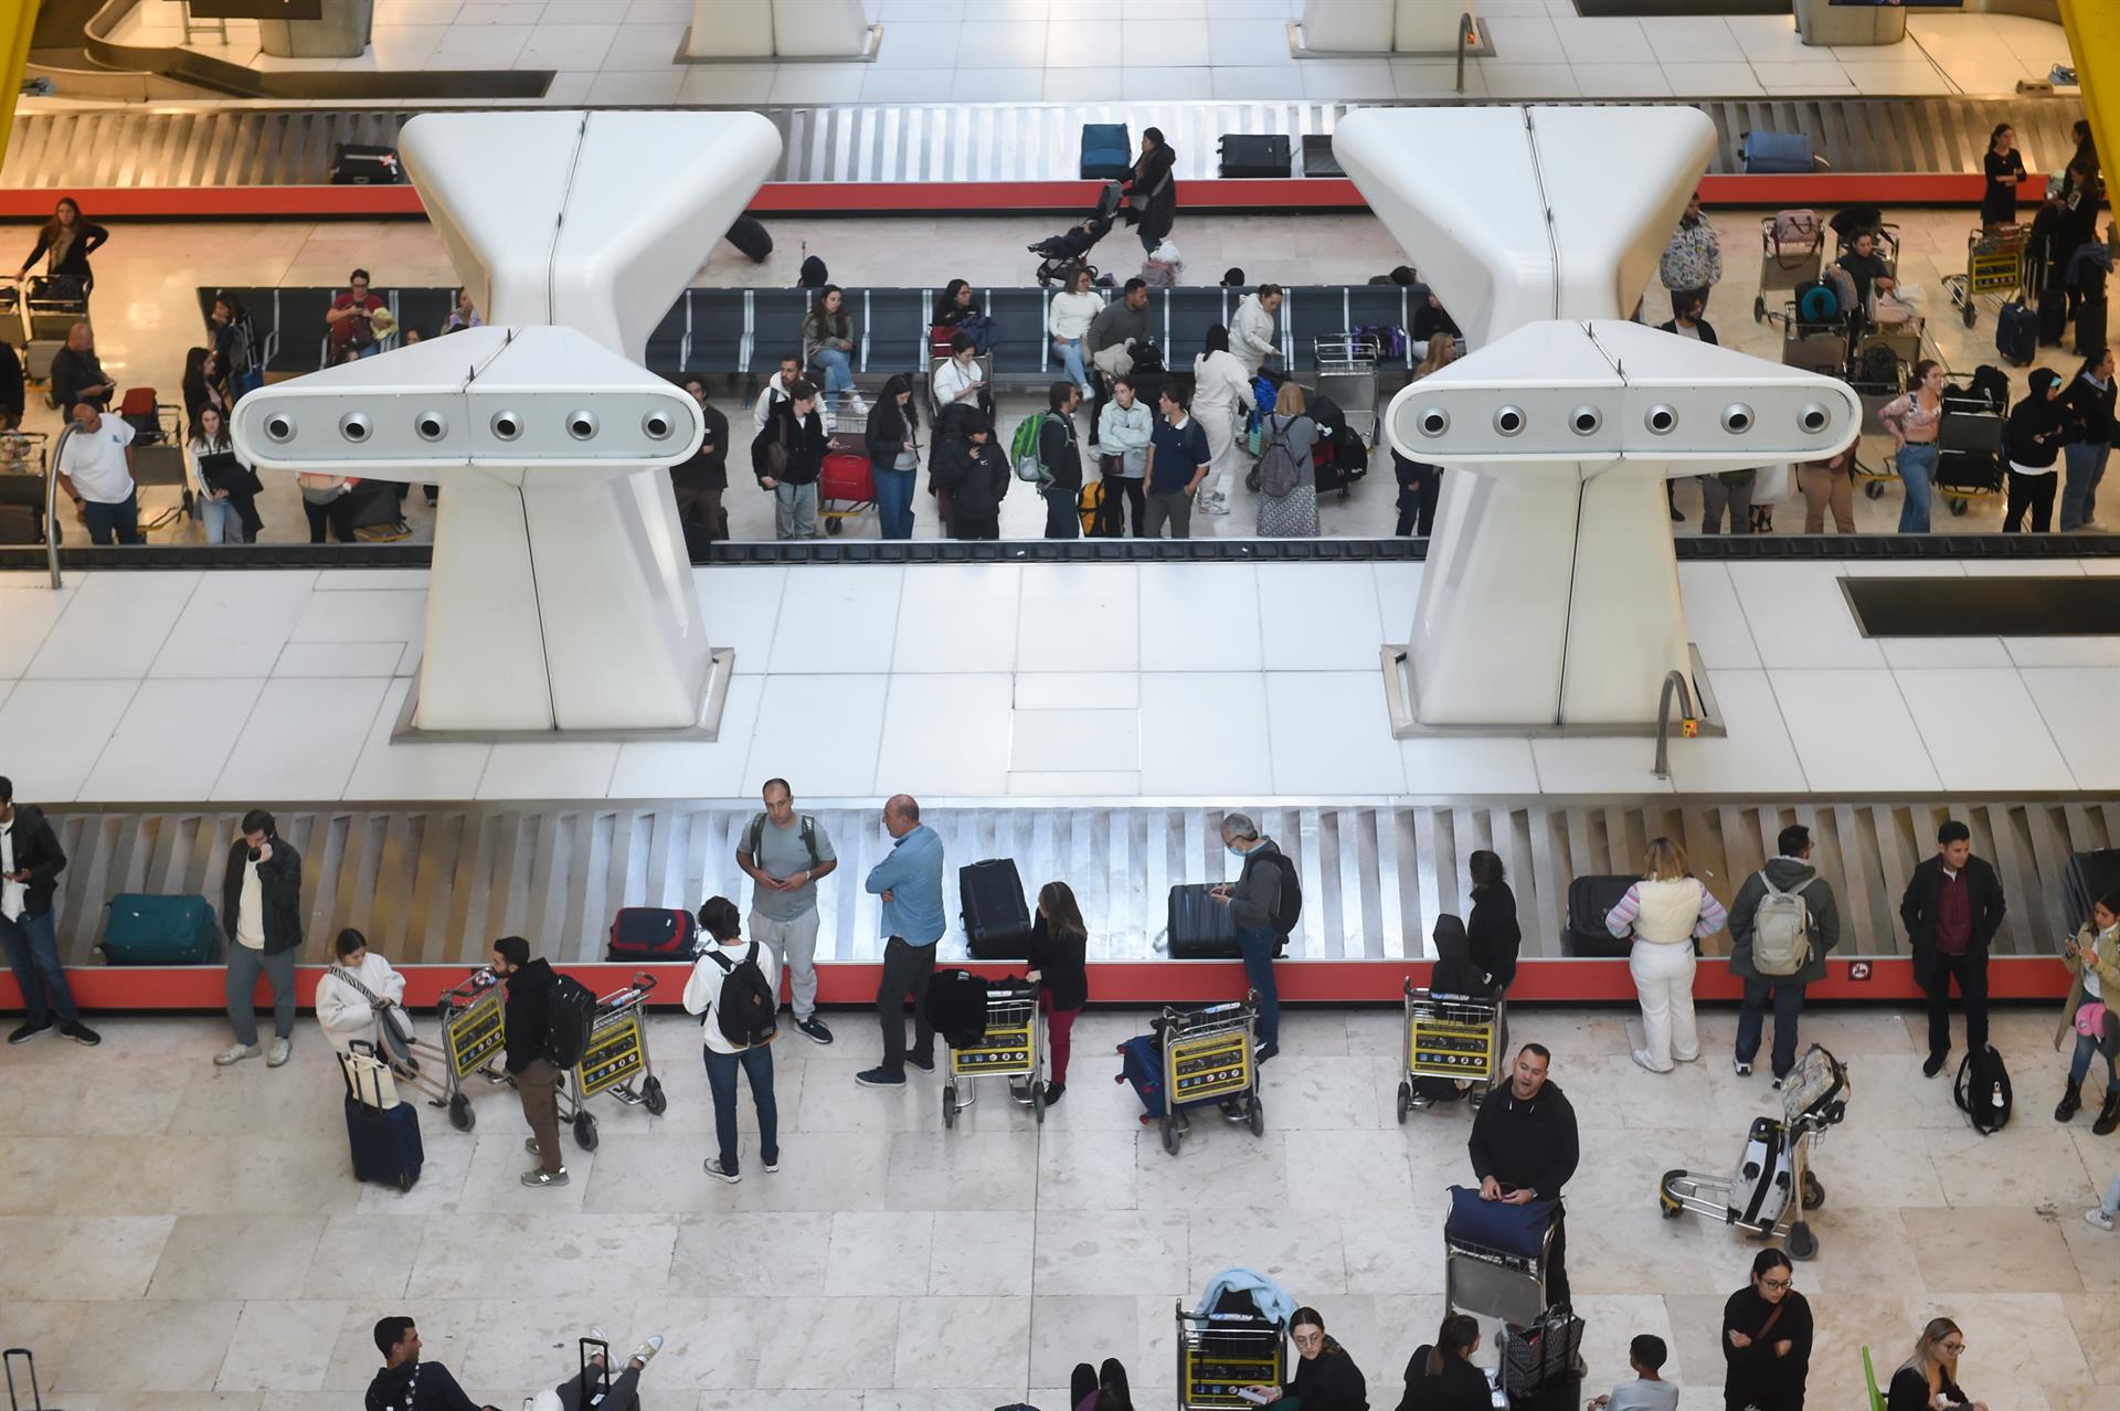
[[[820, 886], [820, 960], [876, 960], [876, 903], [861, 890], [888, 850], [873, 803], [801, 801], [831, 835], [840, 869]], [[1861, 799], [1794, 801], [1558, 801], [1433, 799], [1386, 807], [1287, 803], [1261, 824], [1289, 847], [1304, 879], [1304, 919], [1291, 960], [1427, 955], [1435, 917], [1463, 913], [1473, 850], [1501, 854], [1518, 898], [1526, 958], [1558, 958], [1569, 881], [1635, 873], [1645, 843], [1679, 839], [1711, 890], [1730, 900], [1774, 835], [1804, 822], [1840, 898], [1849, 955], [1902, 955], [1897, 898], [1933, 850], [1936, 822], [1963, 818], [2010, 896], [1997, 955], [2050, 955], [2063, 930], [2061, 875], [2071, 852], [2120, 845], [2120, 801]], [[704, 896], [748, 900], [736, 839], [748, 803], [530, 803], [278, 807], [282, 837], [303, 854], [305, 962], [326, 960], [331, 936], [356, 926], [399, 964], [477, 962], [502, 934], [534, 936], [553, 960], [602, 958], [611, 915], [625, 905], [697, 907]], [[95, 964], [104, 903], [119, 892], [199, 892], [220, 898], [240, 809], [59, 807], [51, 822], [70, 867], [59, 888], [59, 945], [68, 964]], [[1011, 856], [1035, 890], [1066, 879], [1090, 924], [1092, 960], [1149, 960], [1162, 949], [1168, 890], [1219, 881], [1234, 858], [1219, 816], [1204, 807], [1083, 801], [1005, 807], [935, 805], [926, 820], [950, 858], [946, 886], [956, 934], [956, 867]], [[740, 886], [742, 883], [742, 886]], [[1726, 939], [1707, 943], [1709, 953]], [[946, 955], [956, 943], [946, 945]]]

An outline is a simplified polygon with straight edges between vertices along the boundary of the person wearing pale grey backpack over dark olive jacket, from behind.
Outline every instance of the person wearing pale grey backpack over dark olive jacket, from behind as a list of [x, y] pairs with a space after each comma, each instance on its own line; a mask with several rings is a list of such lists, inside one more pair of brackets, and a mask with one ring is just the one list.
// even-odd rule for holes
[[1825, 979], [1825, 951], [1840, 943], [1834, 890], [1810, 864], [1810, 828], [1789, 824], [1774, 839], [1777, 856], [1745, 879], [1730, 903], [1730, 975], [1745, 981], [1736, 1015], [1736, 1076], [1751, 1074], [1774, 1004], [1774, 1087], [1796, 1068], [1796, 1021], [1804, 985]]

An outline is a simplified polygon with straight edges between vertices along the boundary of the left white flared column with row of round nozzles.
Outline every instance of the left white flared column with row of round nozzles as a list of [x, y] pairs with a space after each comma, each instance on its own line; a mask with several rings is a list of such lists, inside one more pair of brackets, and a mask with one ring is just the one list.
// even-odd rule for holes
[[257, 392], [237, 443], [443, 485], [420, 729], [700, 725], [712, 650], [664, 470], [700, 422], [640, 360], [778, 133], [750, 112], [466, 112], [399, 142], [492, 326]]

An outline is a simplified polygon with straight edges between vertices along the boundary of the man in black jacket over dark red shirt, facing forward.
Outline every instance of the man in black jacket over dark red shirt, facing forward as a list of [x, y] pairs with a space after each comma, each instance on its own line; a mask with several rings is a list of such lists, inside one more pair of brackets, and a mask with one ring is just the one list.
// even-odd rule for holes
[[1936, 1076], [1950, 1057], [1950, 981], [1965, 1000], [1965, 1051], [1986, 1047], [1986, 947], [2001, 930], [2001, 879], [1974, 856], [1972, 828], [1946, 818], [1936, 856], [1914, 869], [1900, 898], [1906, 939], [1914, 943], [1914, 981], [1929, 996], [1929, 1061]]

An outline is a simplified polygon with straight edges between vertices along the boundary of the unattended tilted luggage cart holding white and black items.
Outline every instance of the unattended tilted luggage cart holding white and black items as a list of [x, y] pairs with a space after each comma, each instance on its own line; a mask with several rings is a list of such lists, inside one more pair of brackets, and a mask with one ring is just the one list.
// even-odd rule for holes
[[[1810, 1144], [1847, 1114], [1847, 1066], [1823, 1044], [1810, 1044], [1781, 1083], [1781, 1119], [1753, 1119], [1734, 1174], [1664, 1172], [1656, 1189], [1664, 1218], [1692, 1210], [1760, 1239], [1787, 1233], [1789, 1258], [1815, 1256], [1819, 1239], [1802, 1212], [1825, 1203], [1825, 1186], [1810, 1172]], [[1791, 1191], [1802, 1199], [1791, 1201]]]

